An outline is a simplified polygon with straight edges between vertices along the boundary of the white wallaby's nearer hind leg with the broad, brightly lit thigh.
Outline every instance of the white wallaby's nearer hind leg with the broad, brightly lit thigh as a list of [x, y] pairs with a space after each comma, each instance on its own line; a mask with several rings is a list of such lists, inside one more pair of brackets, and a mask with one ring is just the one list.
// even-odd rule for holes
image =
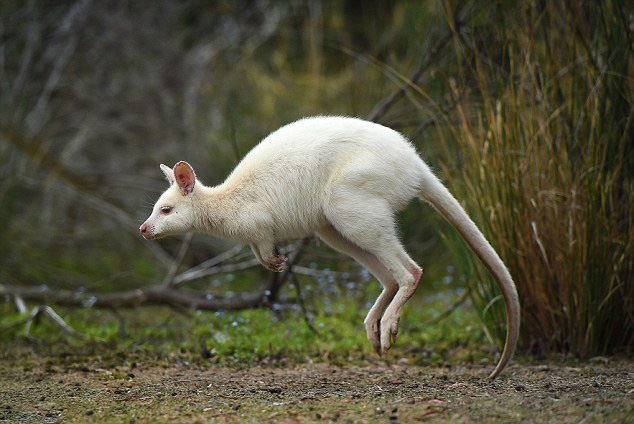
[[[396, 236], [392, 210], [387, 202], [381, 198], [372, 198], [367, 193], [353, 193], [351, 190], [342, 191], [340, 196], [335, 193], [326, 217], [344, 239], [378, 259], [398, 286], [387, 308], [384, 312], [381, 310], [383, 316], [380, 319], [380, 345], [381, 350], [387, 352], [398, 333], [403, 305], [416, 291], [422, 270], [401, 246]], [[375, 277], [380, 278], [377, 275]], [[387, 297], [378, 299], [377, 303], [379, 300], [379, 306], [384, 308]], [[371, 318], [375, 317], [376, 314]]]

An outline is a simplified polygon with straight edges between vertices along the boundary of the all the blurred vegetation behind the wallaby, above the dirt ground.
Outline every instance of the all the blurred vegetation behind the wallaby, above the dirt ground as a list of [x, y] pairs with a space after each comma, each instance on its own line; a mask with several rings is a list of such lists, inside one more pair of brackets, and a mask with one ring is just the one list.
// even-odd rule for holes
[[[187, 160], [219, 183], [279, 126], [343, 114], [403, 132], [439, 170], [516, 280], [525, 351], [632, 352], [626, 2], [6, 0], [0, 16], [0, 325], [25, 314], [9, 288], [29, 286], [76, 293], [84, 309], [56, 310], [98, 340], [210, 340], [211, 357], [368, 353], [378, 283], [316, 241], [298, 262], [314, 272], [268, 310], [90, 308], [91, 293], [161, 283], [180, 251], [184, 271], [232, 247], [140, 237], [166, 188], [159, 163]], [[499, 345], [504, 309], [484, 268], [430, 208], [400, 218], [425, 277], [399, 345]], [[186, 286], [231, 297], [270, 278], [249, 268]], [[424, 325], [465, 291], [449, 320]]]

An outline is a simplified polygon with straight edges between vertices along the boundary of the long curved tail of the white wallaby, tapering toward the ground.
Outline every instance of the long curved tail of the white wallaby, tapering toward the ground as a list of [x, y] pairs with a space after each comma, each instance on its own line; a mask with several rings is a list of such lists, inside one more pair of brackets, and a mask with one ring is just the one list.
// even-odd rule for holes
[[435, 207], [458, 230], [500, 287], [506, 304], [507, 330], [502, 357], [489, 375], [490, 379], [494, 379], [511, 360], [520, 330], [520, 304], [511, 274], [460, 203], [429, 169], [424, 173], [419, 196]]

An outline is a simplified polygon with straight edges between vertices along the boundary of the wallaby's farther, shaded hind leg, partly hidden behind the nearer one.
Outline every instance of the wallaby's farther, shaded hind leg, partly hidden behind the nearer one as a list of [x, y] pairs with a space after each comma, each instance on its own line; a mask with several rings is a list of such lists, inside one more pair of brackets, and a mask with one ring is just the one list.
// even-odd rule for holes
[[368, 335], [370, 344], [376, 351], [381, 353], [381, 333], [380, 323], [383, 312], [394, 298], [398, 290], [398, 284], [390, 274], [387, 268], [379, 261], [379, 259], [372, 253], [361, 249], [356, 244], [344, 238], [339, 232], [332, 226], [328, 225], [317, 232], [319, 238], [326, 242], [333, 249], [351, 256], [368, 271], [379, 280], [383, 286], [383, 291], [374, 302], [374, 305], [368, 311], [368, 315], [364, 320], [365, 330]]

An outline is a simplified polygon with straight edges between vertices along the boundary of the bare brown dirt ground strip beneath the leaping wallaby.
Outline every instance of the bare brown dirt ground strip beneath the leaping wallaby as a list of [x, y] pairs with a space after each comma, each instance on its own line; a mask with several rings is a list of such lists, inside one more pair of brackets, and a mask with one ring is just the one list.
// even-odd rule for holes
[[0, 422], [634, 423], [634, 362], [101, 368], [0, 361]]

